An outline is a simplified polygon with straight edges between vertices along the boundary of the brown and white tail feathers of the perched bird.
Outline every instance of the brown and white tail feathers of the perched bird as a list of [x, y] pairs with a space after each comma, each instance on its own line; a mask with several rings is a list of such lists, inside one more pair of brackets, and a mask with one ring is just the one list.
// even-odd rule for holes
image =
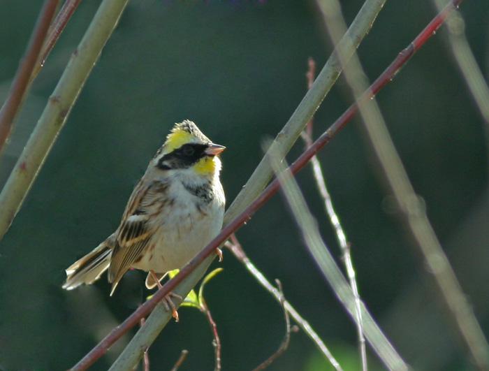
[[110, 265], [113, 247], [110, 245], [111, 237], [66, 268], [66, 281], [63, 284], [63, 289], [73, 290], [80, 284], [92, 284], [100, 278]]

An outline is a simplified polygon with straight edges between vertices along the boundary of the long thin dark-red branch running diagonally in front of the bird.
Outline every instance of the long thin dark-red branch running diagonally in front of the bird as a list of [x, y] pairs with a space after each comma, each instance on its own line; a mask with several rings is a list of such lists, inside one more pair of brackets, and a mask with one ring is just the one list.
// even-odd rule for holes
[[[388, 68], [382, 73], [377, 80], [374, 81], [372, 85], [370, 85], [369, 89], [360, 96], [360, 99], [356, 103], [353, 103], [348, 110], [346, 110], [343, 115], [338, 118], [330, 128], [321, 135], [321, 137], [316, 140], [308, 150], [306, 150], [300, 157], [290, 166], [289, 170], [292, 174], [295, 174], [303, 168], [307, 162], [316, 154], [322, 147], [329, 143], [331, 138], [335, 136], [335, 134], [340, 131], [349, 120], [356, 115], [358, 112], [358, 102], [359, 101], [367, 101], [372, 99], [372, 97], [379, 92], [382, 87], [384, 87], [388, 82], [390, 82], [395, 74], [400, 71], [400, 68], [406, 64], [406, 62], [413, 56], [414, 52], [418, 50], [418, 48], [425, 43], [428, 38], [437, 30], [437, 28], [444, 22], [448, 13], [451, 10], [455, 9], [458, 4], [460, 4], [462, 0], [451, 0], [448, 5], [445, 6], [443, 10], [428, 24], [428, 26], [421, 31], [414, 41], [409, 44], [407, 48], [402, 50], [395, 60], [391, 63]], [[145, 317], [149, 312], [153, 310], [153, 308], [158, 304], [165, 296], [173, 291], [175, 287], [180, 284], [187, 277], [190, 272], [192, 272], [197, 265], [202, 263], [207, 256], [210, 256], [214, 252], [214, 250], [222, 245], [229, 238], [231, 233], [236, 231], [240, 226], [246, 223], [253, 214], [261, 208], [261, 206], [268, 201], [268, 199], [277, 192], [280, 187], [280, 183], [277, 179], [273, 180], [268, 187], [266, 187], [261, 194], [253, 201], [241, 214], [238, 215], [231, 223], [225, 226], [221, 233], [217, 235], [212, 242], [210, 242], [205, 249], [203, 249], [194, 259], [189, 261], [187, 265], [185, 265], [178, 274], [170, 279], [170, 281], [166, 282], [161, 289], [154, 293], [151, 299], [147, 300], [146, 303], [141, 305], [136, 312], [131, 314], [123, 323], [121, 323], [117, 328], [112, 330], [92, 351], [90, 351], [84, 358], [80, 360], [77, 365], [75, 365], [71, 370], [72, 371], [82, 371], [86, 370], [92, 363], [96, 361], [96, 359], [100, 358], [109, 347], [114, 344], [124, 333], [126, 333], [129, 329], [135, 326], [139, 319]]]

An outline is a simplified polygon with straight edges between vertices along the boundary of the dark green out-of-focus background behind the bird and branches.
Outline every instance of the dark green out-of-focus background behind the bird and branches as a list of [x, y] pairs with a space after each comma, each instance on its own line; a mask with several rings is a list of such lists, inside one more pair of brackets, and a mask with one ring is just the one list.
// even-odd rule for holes
[[[0, 0], [0, 101], [6, 99], [42, 1]], [[0, 163], [5, 182], [100, 1], [82, 1], [24, 104]], [[363, 1], [344, 0], [350, 23]], [[465, 31], [488, 73], [489, 3], [464, 1]], [[373, 81], [436, 14], [431, 1], [387, 1], [360, 45]], [[306, 92], [307, 58], [320, 70], [332, 45], [314, 1], [130, 1], [22, 209], [0, 242], [0, 368], [64, 370], [149, 295], [143, 272], [128, 272], [113, 297], [105, 275], [64, 291], [64, 269], [117, 228], [131, 191], [175, 122], [192, 119], [226, 145], [221, 180], [228, 205]], [[440, 29], [377, 101], [416, 192], [462, 289], [489, 335], [488, 138]], [[314, 119], [319, 136], [352, 102], [342, 78]], [[302, 152], [297, 143], [289, 154]], [[432, 275], [391, 208], [391, 194], [360, 119], [319, 153], [356, 267], [360, 295], [416, 370], [471, 370]], [[311, 169], [298, 174], [323, 238], [341, 261]], [[358, 369], [356, 328], [305, 249], [276, 195], [238, 239], [263, 274], [319, 333], [345, 370]], [[224, 370], [251, 370], [282, 342], [284, 317], [233, 255], [205, 297], [221, 337]], [[200, 312], [180, 310], [149, 349], [152, 370], [212, 370], [214, 349]], [[136, 331], [136, 329], [134, 329]], [[133, 332], [134, 332], [133, 331]], [[132, 332], [132, 333], [133, 333]], [[129, 340], [90, 370], [106, 370]], [[370, 368], [384, 366], [370, 352]], [[268, 370], [328, 370], [304, 333]]]

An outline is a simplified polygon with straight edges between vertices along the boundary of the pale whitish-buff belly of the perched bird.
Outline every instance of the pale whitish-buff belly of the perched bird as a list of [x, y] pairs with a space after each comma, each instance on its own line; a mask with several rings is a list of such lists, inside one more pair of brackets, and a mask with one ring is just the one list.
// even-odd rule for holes
[[152, 220], [154, 234], [142, 258], [134, 268], [156, 273], [182, 268], [198, 254], [221, 230], [224, 210], [219, 205], [207, 205], [200, 210], [195, 203], [175, 205], [168, 214], [171, 219]]

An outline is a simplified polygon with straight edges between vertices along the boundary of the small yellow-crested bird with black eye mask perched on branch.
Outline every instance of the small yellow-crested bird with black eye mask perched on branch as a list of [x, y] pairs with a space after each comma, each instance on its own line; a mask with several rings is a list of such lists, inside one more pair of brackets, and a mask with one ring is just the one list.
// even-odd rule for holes
[[[226, 200], [217, 154], [225, 148], [194, 122], [175, 124], [134, 188], [117, 231], [66, 269], [63, 288], [92, 284], [108, 269], [112, 296], [129, 268], [149, 272], [148, 289], [161, 287], [166, 272], [182, 268], [221, 230]], [[178, 320], [168, 296], [166, 302]]]

